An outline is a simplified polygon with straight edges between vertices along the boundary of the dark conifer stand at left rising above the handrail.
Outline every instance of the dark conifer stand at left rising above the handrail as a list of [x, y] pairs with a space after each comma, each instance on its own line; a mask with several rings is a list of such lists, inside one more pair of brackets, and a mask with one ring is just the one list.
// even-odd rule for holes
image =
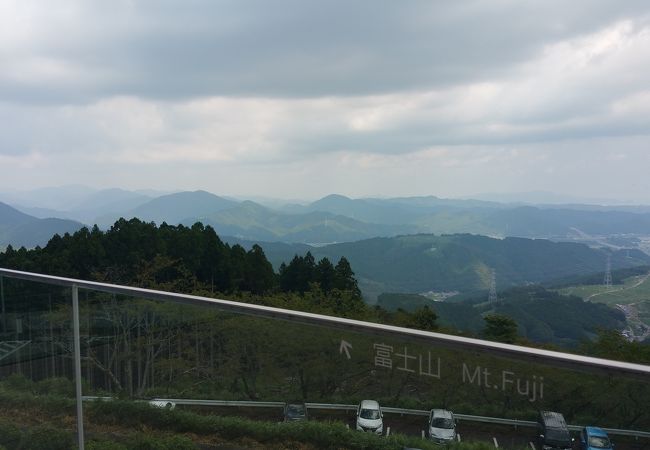
[[8, 246], [0, 266], [180, 292], [304, 293], [317, 283], [325, 293], [339, 289], [360, 295], [344, 257], [335, 266], [327, 258], [316, 262], [311, 254], [296, 256], [276, 274], [260, 246], [246, 251], [224, 244], [212, 227], [198, 222], [157, 227], [120, 219], [106, 232], [95, 226], [55, 235], [43, 248]]

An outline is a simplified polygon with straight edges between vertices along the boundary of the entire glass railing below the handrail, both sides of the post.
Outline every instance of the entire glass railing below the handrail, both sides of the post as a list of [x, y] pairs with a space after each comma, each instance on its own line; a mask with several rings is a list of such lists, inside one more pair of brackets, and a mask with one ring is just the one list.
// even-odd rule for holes
[[[49, 434], [73, 446], [73, 291], [6, 276], [0, 288], [0, 445], [30, 448], [29, 442]], [[241, 424], [207, 426], [155, 411], [277, 423], [287, 417], [287, 403], [306, 403], [315, 421], [426, 440], [438, 439], [431, 411], [450, 411], [458, 439], [496, 439], [501, 448], [544, 445], [540, 435], [546, 432], [535, 425], [540, 411], [561, 413], [579, 427], [650, 431], [648, 375], [629, 367], [597, 368], [543, 351], [504, 353], [263, 307], [101, 289], [78, 290], [81, 381], [90, 397], [84, 402], [87, 441], [111, 441], [116, 430], [123, 443], [140, 439], [142, 430], [147, 436], [202, 436], [215, 426], [233, 426], [244, 433]], [[359, 419], [363, 400], [381, 405], [381, 430]], [[570, 437], [578, 448], [580, 429], [572, 428]], [[617, 450], [648, 445], [647, 436], [611, 437]]]

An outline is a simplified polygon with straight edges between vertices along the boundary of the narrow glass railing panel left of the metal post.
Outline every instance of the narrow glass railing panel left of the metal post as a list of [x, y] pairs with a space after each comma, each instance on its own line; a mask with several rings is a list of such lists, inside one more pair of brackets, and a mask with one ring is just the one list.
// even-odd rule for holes
[[0, 277], [0, 445], [76, 437], [71, 290]]

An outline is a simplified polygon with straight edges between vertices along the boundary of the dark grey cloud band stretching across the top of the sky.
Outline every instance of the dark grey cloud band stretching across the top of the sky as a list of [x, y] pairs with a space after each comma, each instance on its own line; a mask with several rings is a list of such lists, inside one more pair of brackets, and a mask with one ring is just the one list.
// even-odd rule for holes
[[502, 79], [544, 46], [648, 13], [586, 0], [25, 4], [8, 25], [35, 32], [3, 52], [15, 76], [0, 96], [31, 103], [434, 89]]

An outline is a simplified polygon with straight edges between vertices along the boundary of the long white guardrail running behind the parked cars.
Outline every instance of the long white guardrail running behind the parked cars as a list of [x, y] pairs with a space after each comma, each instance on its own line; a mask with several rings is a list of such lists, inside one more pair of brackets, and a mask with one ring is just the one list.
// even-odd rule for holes
[[[92, 399], [105, 399], [105, 397], [84, 397], [84, 400]], [[240, 408], [282, 408], [284, 407], [284, 402], [255, 402], [255, 401], [232, 401], [232, 400], [194, 400], [194, 399], [180, 399], [180, 398], [154, 398], [152, 401], [156, 402], [172, 402], [176, 405], [194, 405], [194, 406], [232, 406]], [[332, 411], [356, 411], [358, 405], [346, 405], [346, 404], [336, 404], [336, 403], [305, 403], [307, 409], [320, 409], [320, 410], [332, 410]], [[425, 416], [428, 417], [430, 411], [422, 409], [403, 409], [403, 408], [391, 408], [391, 407], [382, 407], [383, 412], [388, 414], [403, 414], [403, 415], [413, 415], [413, 416]], [[485, 417], [485, 416], [473, 416], [469, 414], [454, 414], [457, 419], [466, 422], [481, 422], [481, 423], [490, 423], [495, 425], [508, 425], [517, 427], [527, 427], [535, 428], [537, 427], [537, 422], [529, 420], [519, 420], [519, 419], [503, 419], [500, 417]], [[571, 431], [580, 431], [584, 428], [584, 425], [568, 425], [569, 430]], [[602, 428], [608, 434], [619, 435], [619, 436], [631, 436], [635, 438], [645, 438], [650, 439], [650, 432], [647, 431], [636, 431], [636, 430], [619, 430], [616, 428]]]

